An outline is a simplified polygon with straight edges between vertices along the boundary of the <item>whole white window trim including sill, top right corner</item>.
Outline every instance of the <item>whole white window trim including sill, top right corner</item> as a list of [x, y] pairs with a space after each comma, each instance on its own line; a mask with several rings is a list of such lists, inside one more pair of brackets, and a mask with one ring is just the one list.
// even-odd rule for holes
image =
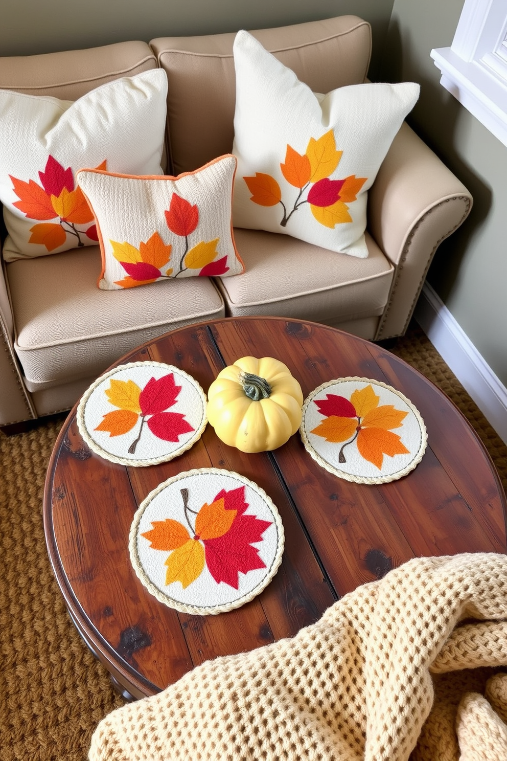
[[440, 84], [507, 146], [505, 37], [505, 0], [465, 0], [452, 46], [430, 55]]

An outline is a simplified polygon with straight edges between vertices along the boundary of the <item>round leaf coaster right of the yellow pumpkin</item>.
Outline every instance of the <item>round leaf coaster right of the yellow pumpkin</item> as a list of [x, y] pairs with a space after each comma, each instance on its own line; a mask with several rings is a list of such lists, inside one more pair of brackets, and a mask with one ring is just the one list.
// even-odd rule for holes
[[344, 377], [322, 384], [303, 403], [299, 429], [313, 459], [356, 483], [395, 481], [426, 450], [426, 426], [414, 404], [381, 380]]

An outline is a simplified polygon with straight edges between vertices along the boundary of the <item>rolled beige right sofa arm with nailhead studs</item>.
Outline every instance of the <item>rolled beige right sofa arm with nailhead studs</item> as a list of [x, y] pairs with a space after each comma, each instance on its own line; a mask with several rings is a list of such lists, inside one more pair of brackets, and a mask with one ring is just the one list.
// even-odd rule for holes
[[369, 189], [368, 230], [395, 266], [375, 340], [407, 330], [436, 249], [471, 206], [467, 188], [404, 123]]

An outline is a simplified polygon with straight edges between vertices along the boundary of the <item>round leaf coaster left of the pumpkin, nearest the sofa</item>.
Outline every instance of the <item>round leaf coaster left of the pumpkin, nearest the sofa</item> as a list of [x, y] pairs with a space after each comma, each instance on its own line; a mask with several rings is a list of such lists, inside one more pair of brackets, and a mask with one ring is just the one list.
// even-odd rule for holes
[[162, 362], [129, 362], [101, 375], [78, 405], [78, 428], [91, 450], [122, 465], [172, 460], [206, 427], [197, 380]]

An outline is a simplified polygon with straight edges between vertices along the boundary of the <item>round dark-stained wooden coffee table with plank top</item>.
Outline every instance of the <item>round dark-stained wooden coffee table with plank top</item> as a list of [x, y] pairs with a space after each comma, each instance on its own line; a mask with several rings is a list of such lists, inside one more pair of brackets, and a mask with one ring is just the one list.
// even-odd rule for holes
[[[229, 318], [166, 334], [118, 364], [175, 365], [207, 391], [225, 365], [245, 355], [284, 361], [305, 396], [348, 376], [395, 387], [423, 417], [428, 447], [407, 476], [366, 485], [328, 473], [298, 434], [271, 453], [243, 454], [208, 425], [176, 459], [127, 467], [90, 451], [74, 408], [49, 463], [46, 543], [75, 626], [125, 696], [157, 693], [210, 658], [290, 637], [338, 597], [414, 556], [507, 551], [505, 493], [483, 444], [439, 389], [378, 345], [316, 323]], [[240, 473], [268, 493], [284, 524], [285, 549], [273, 581], [254, 600], [195, 616], [145, 589], [130, 562], [128, 533], [138, 505], [160, 482], [210, 466]]]

